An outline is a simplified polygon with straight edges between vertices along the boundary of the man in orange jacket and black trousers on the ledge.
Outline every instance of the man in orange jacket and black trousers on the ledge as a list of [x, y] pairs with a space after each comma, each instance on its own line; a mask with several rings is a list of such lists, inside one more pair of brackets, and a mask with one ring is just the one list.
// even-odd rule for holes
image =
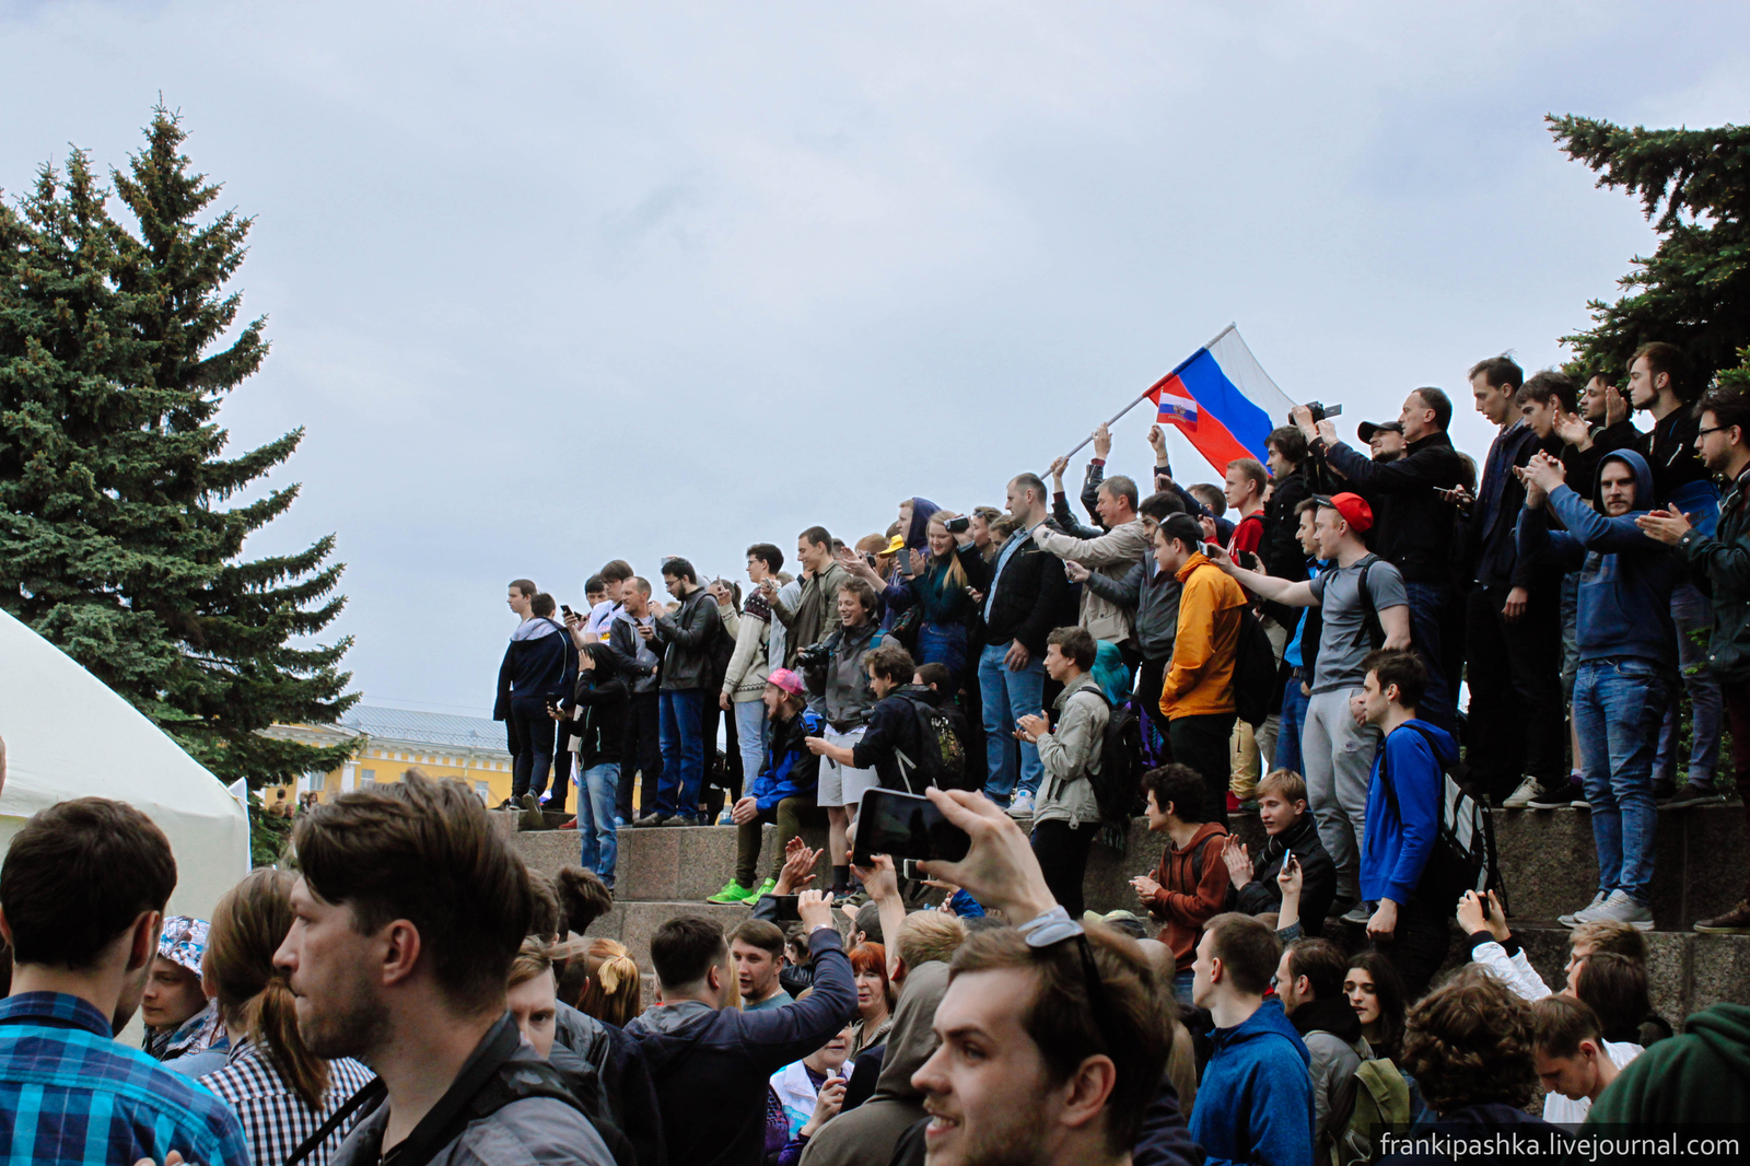
[[[1228, 737], [1234, 732], [1234, 658], [1246, 594], [1202, 553], [1202, 529], [1190, 515], [1155, 527], [1155, 565], [1180, 581], [1180, 630], [1172, 667], [1160, 685], [1172, 760], [1204, 779], [1206, 819], [1227, 809]], [[1157, 576], [1158, 578], [1158, 576]]]

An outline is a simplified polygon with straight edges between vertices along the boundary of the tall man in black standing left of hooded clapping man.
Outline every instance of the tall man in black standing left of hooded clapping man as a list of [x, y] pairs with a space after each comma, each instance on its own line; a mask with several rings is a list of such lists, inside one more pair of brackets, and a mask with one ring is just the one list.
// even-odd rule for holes
[[[1482, 464], [1460, 551], [1472, 583], [1465, 609], [1472, 741], [1465, 760], [1477, 788], [1514, 809], [1568, 784], [1561, 588], [1547, 567], [1519, 555], [1514, 536], [1526, 494], [1514, 471], [1538, 450], [1536, 431], [1517, 406], [1521, 385], [1524, 371], [1505, 355], [1470, 369], [1477, 411], [1500, 432]], [[1442, 523], [1438, 537], [1447, 529]]]

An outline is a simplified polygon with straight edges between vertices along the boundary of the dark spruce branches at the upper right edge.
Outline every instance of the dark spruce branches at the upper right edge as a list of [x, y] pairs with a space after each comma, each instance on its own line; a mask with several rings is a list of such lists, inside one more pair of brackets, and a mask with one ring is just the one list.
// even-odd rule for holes
[[1591, 166], [1598, 186], [1638, 194], [1659, 231], [1636, 256], [1615, 303], [1587, 305], [1592, 327], [1563, 336], [1572, 371], [1619, 383], [1642, 343], [1664, 340], [1694, 362], [1698, 387], [1740, 362], [1750, 343], [1750, 126], [1626, 130], [1589, 117], [1549, 117], [1558, 144]]

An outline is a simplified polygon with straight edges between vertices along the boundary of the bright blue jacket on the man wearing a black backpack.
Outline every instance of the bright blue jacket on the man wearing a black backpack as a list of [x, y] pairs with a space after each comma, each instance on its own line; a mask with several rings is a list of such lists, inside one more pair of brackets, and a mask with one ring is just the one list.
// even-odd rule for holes
[[[1433, 749], [1428, 748], [1430, 739]], [[1362, 828], [1362, 898], [1367, 902], [1390, 898], [1402, 907], [1416, 893], [1440, 835], [1444, 769], [1456, 760], [1452, 735], [1419, 720], [1398, 725], [1379, 746]], [[1396, 814], [1386, 797], [1386, 781], [1396, 795]]]

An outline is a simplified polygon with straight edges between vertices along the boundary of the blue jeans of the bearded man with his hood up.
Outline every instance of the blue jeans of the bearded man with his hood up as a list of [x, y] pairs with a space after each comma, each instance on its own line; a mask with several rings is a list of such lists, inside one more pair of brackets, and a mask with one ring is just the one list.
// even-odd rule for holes
[[1592, 805], [1598, 889], [1652, 903], [1652, 755], [1671, 679], [1650, 660], [1584, 660], [1573, 681], [1586, 800]]

